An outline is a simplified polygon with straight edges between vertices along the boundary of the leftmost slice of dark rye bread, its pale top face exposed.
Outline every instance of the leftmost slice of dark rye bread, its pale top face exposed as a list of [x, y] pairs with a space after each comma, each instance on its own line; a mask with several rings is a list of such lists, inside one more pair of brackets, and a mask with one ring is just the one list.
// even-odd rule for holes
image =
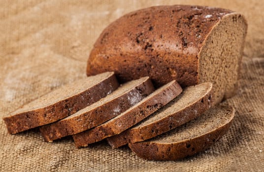
[[74, 81], [3, 118], [10, 134], [55, 122], [97, 102], [119, 86], [114, 72]]

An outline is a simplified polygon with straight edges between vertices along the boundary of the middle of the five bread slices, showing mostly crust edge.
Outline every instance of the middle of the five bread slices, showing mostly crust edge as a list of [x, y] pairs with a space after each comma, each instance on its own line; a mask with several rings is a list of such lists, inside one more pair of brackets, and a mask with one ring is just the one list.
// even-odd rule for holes
[[117, 115], [93, 129], [73, 135], [75, 145], [77, 147], [87, 146], [90, 143], [95, 143], [119, 134], [165, 106], [181, 92], [181, 86], [175, 80], [171, 81], [151, 93], [126, 112]]

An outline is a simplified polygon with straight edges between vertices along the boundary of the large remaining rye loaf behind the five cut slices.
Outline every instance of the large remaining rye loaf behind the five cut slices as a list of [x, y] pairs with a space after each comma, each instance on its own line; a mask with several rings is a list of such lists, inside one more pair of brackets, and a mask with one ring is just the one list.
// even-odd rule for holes
[[140, 9], [102, 31], [88, 59], [87, 75], [115, 71], [120, 81], [150, 76], [154, 85], [176, 80], [183, 87], [210, 82], [217, 104], [236, 90], [246, 30], [245, 17], [228, 9]]

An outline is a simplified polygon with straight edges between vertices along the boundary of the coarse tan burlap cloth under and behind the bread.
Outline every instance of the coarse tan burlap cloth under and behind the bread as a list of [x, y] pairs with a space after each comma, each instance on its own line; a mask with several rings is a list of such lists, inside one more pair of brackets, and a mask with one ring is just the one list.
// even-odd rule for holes
[[27, 171], [264, 171], [263, 0], [0, 0], [0, 118], [49, 91], [85, 76], [99, 33], [121, 15], [159, 4], [230, 8], [248, 20], [236, 116], [227, 135], [181, 161], [146, 161], [107, 143], [76, 149], [70, 137], [45, 143], [37, 129], [9, 135], [0, 119], [0, 169]]

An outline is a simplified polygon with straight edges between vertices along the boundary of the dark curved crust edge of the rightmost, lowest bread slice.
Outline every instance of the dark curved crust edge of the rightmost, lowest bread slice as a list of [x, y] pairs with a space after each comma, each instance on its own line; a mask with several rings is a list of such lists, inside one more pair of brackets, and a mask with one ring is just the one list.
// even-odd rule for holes
[[[234, 109], [232, 111], [234, 115]], [[131, 150], [139, 157], [147, 160], [178, 160], [184, 157], [192, 156], [200, 151], [207, 149], [218, 141], [229, 129], [231, 120], [212, 131], [190, 138], [189, 140], [176, 143], [155, 143], [155, 142], [138, 142], [129, 143]]]

